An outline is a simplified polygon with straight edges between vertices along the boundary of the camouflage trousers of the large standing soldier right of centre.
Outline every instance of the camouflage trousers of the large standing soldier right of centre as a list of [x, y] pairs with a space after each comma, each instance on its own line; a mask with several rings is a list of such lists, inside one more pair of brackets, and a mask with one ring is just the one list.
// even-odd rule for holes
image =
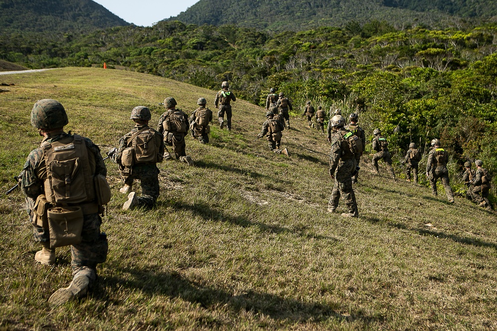
[[359, 216], [354, 190], [352, 189], [352, 172], [355, 170], [355, 159], [340, 160], [334, 174], [333, 191], [331, 192], [328, 208], [335, 210], [338, 207], [340, 196], [345, 200], [348, 212], [352, 216]]

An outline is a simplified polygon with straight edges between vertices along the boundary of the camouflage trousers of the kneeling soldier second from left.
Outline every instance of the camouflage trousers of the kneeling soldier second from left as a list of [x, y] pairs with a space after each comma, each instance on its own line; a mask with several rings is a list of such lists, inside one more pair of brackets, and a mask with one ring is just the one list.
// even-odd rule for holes
[[142, 196], [138, 197], [138, 206], [152, 208], [159, 197], [159, 168], [157, 164], [135, 165], [124, 184], [133, 186], [135, 179], [140, 180]]

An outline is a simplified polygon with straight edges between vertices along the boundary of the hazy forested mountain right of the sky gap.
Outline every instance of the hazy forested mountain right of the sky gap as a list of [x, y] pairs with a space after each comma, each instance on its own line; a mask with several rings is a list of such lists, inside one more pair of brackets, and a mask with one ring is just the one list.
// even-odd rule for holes
[[270, 31], [344, 26], [351, 20], [385, 20], [396, 27], [460, 25], [462, 17], [497, 15], [495, 0], [200, 0], [168, 20], [238, 24]]

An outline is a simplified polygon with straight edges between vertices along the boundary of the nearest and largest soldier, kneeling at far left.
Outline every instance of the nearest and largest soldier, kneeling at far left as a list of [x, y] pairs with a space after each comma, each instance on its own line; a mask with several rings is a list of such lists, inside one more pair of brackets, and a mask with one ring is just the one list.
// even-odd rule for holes
[[34, 104], [31, 124], [43, 140], [41, 147], [29, 153], [20, 180], [34, 238], [42, 246], [35, 261], [53, 265], [55, 248], [71, 245], [73, 281], [50, 296], [48, 302], [55, 306], [86, 294], [96, 279], [96, 265], [105, 262], [108, 251], [99, 215], [111, 195], [107, 169], [97, 145], [64, 132], [68, 123], [58, 101], [43, 99]]

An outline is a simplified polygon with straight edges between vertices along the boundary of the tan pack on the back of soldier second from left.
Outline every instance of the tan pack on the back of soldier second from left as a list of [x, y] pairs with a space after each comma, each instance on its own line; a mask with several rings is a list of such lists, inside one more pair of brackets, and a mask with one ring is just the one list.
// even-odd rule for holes
[[159, 148], [155, 135], [155, 130], [145, 127], [130, 137], [127, 142], [128, 147], [134, 149], [134, 164], [156, 163], [158, 161]]

